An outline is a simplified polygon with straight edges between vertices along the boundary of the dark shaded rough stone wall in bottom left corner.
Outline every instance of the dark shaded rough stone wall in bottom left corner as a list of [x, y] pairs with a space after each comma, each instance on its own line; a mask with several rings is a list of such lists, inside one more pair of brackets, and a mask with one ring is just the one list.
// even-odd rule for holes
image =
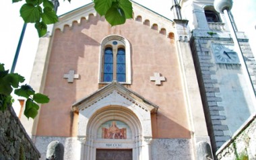
[[39, 159], [40, 153], [13, 108], [0, 111], [0, 118], [0, 159]]

